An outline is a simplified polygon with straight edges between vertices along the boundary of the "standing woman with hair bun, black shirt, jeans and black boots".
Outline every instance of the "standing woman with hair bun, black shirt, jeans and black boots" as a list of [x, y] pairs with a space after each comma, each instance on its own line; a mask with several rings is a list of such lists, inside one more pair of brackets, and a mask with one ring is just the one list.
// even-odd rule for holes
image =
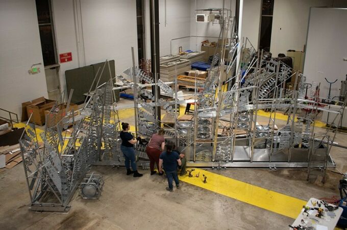
[[[121, 127], [123, 131], [120, 132], [120, 138], [122, 140], [120, 150], [126, 158], [125, 165], [127, 168], [127, 175], [134, 174], [134, 177], [142, 177], [142, 174], [139, 174], [137, 171], [135, 162], [134, 144], [137, 142], [137, 140], [135, 140], [134, 136], [128, 132], [130, 129], [130, 125], [128, 123], [122, 122]], [[130, 164], [133, 171], [130, 170]]]

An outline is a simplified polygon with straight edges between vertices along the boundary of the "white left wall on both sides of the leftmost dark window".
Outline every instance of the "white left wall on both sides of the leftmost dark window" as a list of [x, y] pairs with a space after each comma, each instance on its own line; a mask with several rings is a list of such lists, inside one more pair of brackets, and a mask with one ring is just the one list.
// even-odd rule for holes
[[[78, 25], [76, 3], [81, 6]], [[83, 64], [113, 59], [116, 73], [122, 72], [132, 65], [132, 46], [137, 64], [135, 0], [52, 0], [52, 10], [57, 53], [72, 52], [72, 61], [59, 69], [62, 90], [65, 70]], [[47, 97], [35, 0], [0, 1], [0, 44], [0, 108], [20, 115], [22, 102]], [[35, 63], [42, 63], [41, 72], [30, 75]]]

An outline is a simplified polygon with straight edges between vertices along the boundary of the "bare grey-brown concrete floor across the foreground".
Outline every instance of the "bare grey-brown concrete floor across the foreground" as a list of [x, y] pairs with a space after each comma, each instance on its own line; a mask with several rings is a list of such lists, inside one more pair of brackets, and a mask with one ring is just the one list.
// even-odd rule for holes
[[[336, 141], [347, 145], [346, 137], [345, 133], [338, 133]], [[337, 169], [347, 171], [346, 149], [333, 147], [331, 155]], [[29, 194], [22, 164], [1, 170], [0, 229], [287, 229], [293, 222], [289, 217], [190, 184], [181, 183], [180, 190], [167, 192], [166, 178], [150, 176], [149, 170], [140, 170], [144, 172], [142, 178], [126, 176], [123, 167], [93, 166], [92, 171], [105, 179], [100, 199], [85, 200], [76, 192], [69, 213], [60, 214], [28, 210]], [[328, 170], [323, 185], [320, 178], [308, 183], [305, 169], [213, 172], [304, 200], [338, 195], [341, 178]]]

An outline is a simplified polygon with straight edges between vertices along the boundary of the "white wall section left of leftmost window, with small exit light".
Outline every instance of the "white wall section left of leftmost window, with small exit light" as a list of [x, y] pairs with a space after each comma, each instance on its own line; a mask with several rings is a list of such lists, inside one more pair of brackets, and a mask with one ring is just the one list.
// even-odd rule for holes
[[47, 97], [35, 0], [0, 1], [0, 44], [0, 108], [21, 117], [22, 102]]

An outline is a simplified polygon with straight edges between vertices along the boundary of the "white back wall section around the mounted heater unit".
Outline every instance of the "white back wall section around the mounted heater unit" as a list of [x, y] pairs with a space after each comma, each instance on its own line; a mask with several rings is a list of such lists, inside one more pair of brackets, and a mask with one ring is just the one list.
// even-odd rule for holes
[[[195, 14], [196, 9], [209, 9], [209, 8], [222, 8], [223, 6], [222, 0], [191, 0], [190, 1], [190, 36], [198, 36], [192, 37], [190, 39], [190, 49], [192, 50], [201, 50], [201, 42], [208, 39], [210, 42], [217, 41], [220, 25], [213, 23], [202, 23], [195, 22]], [[195, 5], [196, 4], [196, 5]], [[231, 16], [235, 16], [236, 11], [236, 0], [226, 0], [225, 8], [231, 9]], [[203, 13], [203, 11], [199, 11], [199, 13]], [[216, 38], [214, 38], [216, 37]]]

